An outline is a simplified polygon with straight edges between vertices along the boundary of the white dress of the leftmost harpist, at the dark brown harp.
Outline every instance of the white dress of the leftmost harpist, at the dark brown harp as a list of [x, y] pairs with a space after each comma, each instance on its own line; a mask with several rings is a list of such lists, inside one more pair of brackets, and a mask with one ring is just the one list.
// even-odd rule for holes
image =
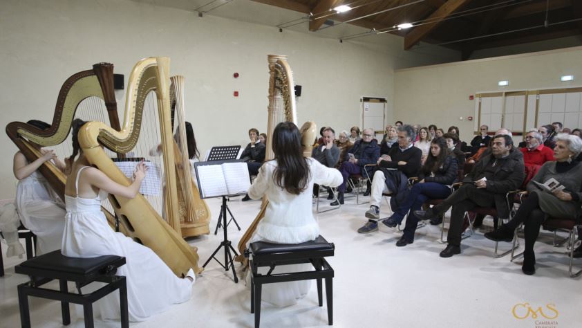
[[37, 235], [37, 255], [61, 248], [65, 206], [38, 171], [18, 182], [16, 208], [22, 224]]

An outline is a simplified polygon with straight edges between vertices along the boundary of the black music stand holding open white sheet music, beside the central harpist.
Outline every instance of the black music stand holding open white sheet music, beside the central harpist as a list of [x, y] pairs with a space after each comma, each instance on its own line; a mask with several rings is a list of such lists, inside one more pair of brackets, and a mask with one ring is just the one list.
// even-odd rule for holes
[[[232, 275], [234, 277], [234, 282], [238, 283], [238, 277], [236, 276], [236, 272], [234, 271], [234, 257], [238, 256], [238, 253], [236, 253], [236, 250], [234, 249], [234, 247], [232, 247], [232, 242], [230, 242], [228, 240], [228, 235], [227, 235], [227, 212], [230, 213], [231, 217], [232, 217], [232, 212], [230, 212], [228, 206], [227, 206], [227, 197], [229, 196], [234, 196], [232, 194], [223, 194], [223, 195], [214, 195], [214, 196], [210, 196], [207, 197], [205, 196], [204, 192], [203, 192], [203, 188], [202, 185], [200, 185], [200, 172], [198, 172], [198, 167], [200, 166], [205, 166], [205, 165], [221, 165], [223, 163], [242, 163], [242, 161], [240, 160], [234, 160], [234, 161], [207, 161], [207, 162], [198, 162], [198, 163], [194, 163], [194, 169], [196, 171], [196, 179], [198, 181], [198, 190], [200, 190], [200, 198], [205, 199], [205, 198], [212, 198], [212, 197], [222, 197], [223, 198], [223, 203], [222, 206], [220, 206], [220, 214], [218, 215], [218, 222], [220, 222], [222, 220], [223, 222], [223, 233], [224, 233], [224, 238], [223, 241], [220, 242], [220, 245], [218, 245], [218, 247], [216, 248], [216, 250], [214, 250], [214, 253], [212, 253], [212, 255], [210, 255], [210, 257], [206, 260], [206, 262], [204, 263], [204, 265], [202, 266], [203, 268], [205, 268], [207, 266], [207, 264], [210, 262], [211, 259], [214, 259], [216, 262], [218, 262], [218, 264], [220, 264], [220, 266], [222, 266], [225, 271], [229, 271], [229, 269], [232, 269]], [[250, 185], [250, 181], [249, 181], [249, 185]], [[238, 194], [240, 195], [240, 194]], [[234, 220], [234, 217], [231, 218], [231, 220]], [[234, 221], [236, 224], [236, 220]], [[236, 224], [236, 226], [238, 227], [238, 224]], [[218, 229], [218, 227], [217, 227]], [[238, 230], [241, 230], [240, 227], [238, 227]], [[215, 233], [216, 234], [216, 233]], [[224, 247], [225, 248], [225, 259], [224, 259], [224, 264], [223, 262], [220, 262], [220, 260], [218, 260], [215, 255], [216, 253], [218, 253], [218, 250], [220, 250], [220, 248]], [[232, 252], [234, 253], [234, 256], [230, 253], [230, 251], [232, 250]]]

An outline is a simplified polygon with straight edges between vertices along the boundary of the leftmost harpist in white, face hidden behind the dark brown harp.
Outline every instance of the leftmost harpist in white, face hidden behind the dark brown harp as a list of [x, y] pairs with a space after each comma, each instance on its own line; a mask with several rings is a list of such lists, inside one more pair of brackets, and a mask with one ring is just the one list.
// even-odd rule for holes
[[[48, 123], [39, 120], [29, 120], [27, 123], [41, 130], [50, 127]], [[61, 247], [65, 205], [38, 169], [50, 161], [65, 172], [65, 164], [57, 158], [53, 150], [42, 149], [40, 145], [32, 142], [30, 144], [36, 147], [42, 156], [29, 163], [21, 152], [14, 155], [12, 168], [18, 179], [15, 206], [22, 224], [37, 236], [36, 254], [41, 255]]]

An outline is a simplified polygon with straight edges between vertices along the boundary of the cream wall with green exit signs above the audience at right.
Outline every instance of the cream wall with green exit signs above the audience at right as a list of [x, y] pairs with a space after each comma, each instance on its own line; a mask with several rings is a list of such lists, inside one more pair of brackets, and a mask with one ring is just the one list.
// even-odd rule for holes
[[[474, 116], [475, 101], [469, 95], [580, 86], [581, 58], [582, 47], [574, 47], [397, 70], [393, 117], [445, 131], [457, 125], [461, 139], [471, 140], [473, 122], [467, 116]], [[566, 74], [578, 80], [560, 82]], [[509, 86], [497, 86], [499, 80], [509, 80]]]

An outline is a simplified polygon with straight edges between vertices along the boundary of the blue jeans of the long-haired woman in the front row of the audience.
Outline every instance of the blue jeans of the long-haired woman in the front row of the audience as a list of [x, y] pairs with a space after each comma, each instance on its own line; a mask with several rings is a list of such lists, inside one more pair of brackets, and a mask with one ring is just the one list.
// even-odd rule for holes
[[404, 235], [406, 239], [414, 240], [414, 232], [418, 224], [418, 218], [414, 215], [415, 210], [420, 210], [423, 203], [429, 199], [445, 199], [451, 194], [451, 188], [447, 185], [442, 185], [436, 182], [424, 182], [413, 185], [409, 197], [406, 197], [400, 208], [394, 209], [392, 218], [401, 222], [406, 213], [409, 213], [406, 219], [406, 226], [404, 227]]

